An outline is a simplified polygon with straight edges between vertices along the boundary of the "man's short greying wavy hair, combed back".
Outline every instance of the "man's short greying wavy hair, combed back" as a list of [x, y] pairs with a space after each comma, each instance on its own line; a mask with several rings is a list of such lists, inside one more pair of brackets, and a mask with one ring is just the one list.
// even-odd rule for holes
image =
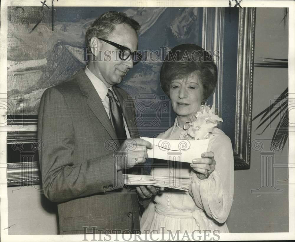
[[91, 53], [90, 40], [96, 36], [98, 38], [107, 39], [115, 29], [115, 24], [128, 24], [136, 33], [140, 30], [140, 24], [131, 19], [125, 13], [117, 11], [109, 11], [99, 16], [87, 29], [85, 34], [85, 43], [88, 53]]

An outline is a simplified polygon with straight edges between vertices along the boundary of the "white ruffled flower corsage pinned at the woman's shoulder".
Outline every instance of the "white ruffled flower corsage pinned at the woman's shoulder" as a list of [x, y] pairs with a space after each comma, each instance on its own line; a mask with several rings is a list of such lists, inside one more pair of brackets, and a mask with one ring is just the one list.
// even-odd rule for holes
[[209, 133], [218, 125], [218, 122], [223, 122], [222, 118], [214, 114], [214, 106], [201, 105], [201, 111], [189, 117], [189, 121], [184, 124], [180, 138], [189, 140], [198, 140], [209, 138]]

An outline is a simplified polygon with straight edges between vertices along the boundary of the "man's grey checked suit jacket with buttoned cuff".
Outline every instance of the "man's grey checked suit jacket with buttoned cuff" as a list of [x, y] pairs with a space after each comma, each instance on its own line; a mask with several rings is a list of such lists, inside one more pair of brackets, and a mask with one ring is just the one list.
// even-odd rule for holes
[[[132, 138], [133, 100], [114, 86]], [[137, 193], [124, 186], [113, 152], [119, 147], [101, 99], [84, 70], [47, 89], [40, 102], [38, 139], [45, 196], [58, 202], [59, 233], [140, 229]]]

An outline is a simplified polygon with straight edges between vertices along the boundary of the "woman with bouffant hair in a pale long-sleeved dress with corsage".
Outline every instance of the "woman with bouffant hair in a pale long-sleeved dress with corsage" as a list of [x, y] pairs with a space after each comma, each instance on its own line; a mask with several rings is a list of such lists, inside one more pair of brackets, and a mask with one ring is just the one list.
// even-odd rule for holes
[[[222, 121], [213, 108], [205, 106], [214, 93], [217, 68], [210, 54], [195, 44], [174, 47], [160, 71], [163, 91], [171, 99], [176, 119], [174, 125], [157, 138], [209, 138], [202, 158], [191, 163], [167, 161], [152, 165], [155, 176], [191, 176], [189, 192], [167, 188], [152, 197], [140, 221], [142, 233], [195, 233], [219, 230], [229, 233], [225, 223], [232, 206], [234, 164], [230, 138], [218, 129]], [[147, 198], [148, 201], [148, 198]]]

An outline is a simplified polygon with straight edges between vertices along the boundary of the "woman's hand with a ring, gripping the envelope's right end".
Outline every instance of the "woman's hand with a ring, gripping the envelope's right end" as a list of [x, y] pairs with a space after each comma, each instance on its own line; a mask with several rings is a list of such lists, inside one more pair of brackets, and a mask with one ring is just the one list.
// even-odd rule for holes
[[201, 157], [193, 159], [190, 165], [197, 172], [199, 179], [205, 179], [215, 170], [216, 161], [212, 151], [202, 153]]

